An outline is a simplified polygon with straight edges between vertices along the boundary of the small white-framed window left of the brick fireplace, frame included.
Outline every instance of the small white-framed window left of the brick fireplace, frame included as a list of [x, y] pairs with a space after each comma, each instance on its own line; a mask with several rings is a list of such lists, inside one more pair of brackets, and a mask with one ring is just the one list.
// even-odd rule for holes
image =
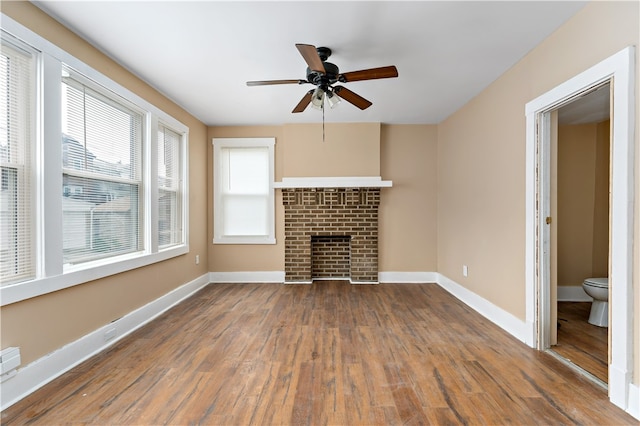
[[273, 138], [214, 139], [214, 243], [275, 244]]

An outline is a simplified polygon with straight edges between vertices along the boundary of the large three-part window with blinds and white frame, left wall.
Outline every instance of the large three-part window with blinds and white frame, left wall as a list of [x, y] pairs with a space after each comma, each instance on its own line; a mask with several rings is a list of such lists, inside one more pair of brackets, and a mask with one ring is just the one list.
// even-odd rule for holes
[[0, 24], [0, 304], [187, 253], [188, 128]]

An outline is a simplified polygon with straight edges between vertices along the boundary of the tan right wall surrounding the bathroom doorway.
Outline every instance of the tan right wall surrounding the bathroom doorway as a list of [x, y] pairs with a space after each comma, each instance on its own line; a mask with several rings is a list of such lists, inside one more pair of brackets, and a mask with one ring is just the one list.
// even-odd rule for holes
[[[589, 3], [438, 126], [438, 272], [522, 320], [525, 105], [625, 47], [640, 45], [638, 16], [638, 2]], [[636, 52], [636, 70], [638, 56]], [[635, 138], [638, 152], [637, 131]], [[638, 156], [635, 161], [638, 170]], [[640, 200], [639, 187], [635, 185], [636, 200]], [[635, 204], [636, 254], [640, 247], [639, 204]], [[463, 264], [470, 268], [467, 278], [461, 274]], [[636, 260], [636, 372], [640, 369], [639, 275], [640, 261]], [[634, 380], [637, 383], [637, 374]]]

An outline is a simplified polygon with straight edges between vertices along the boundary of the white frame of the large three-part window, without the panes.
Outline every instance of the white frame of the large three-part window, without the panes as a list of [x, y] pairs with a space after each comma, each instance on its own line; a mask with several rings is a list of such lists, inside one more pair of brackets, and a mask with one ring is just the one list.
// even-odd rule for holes
[[[32, 185], [35, 191], [33, 214], [36, 221], [36, 277], [0, 286], [0, 306], [62, 290], [75, 285], [162, 262], [189, 252], [189, 128], [160, 108], [131, 92], [80, 59], [19, 24], [1, 15], [2, 37], [19, 40], [39, 52], [36, 84], [36, 141], [32, 146], [35, 167]], [[62, 125], [61, 76], [64, 68], [72, 69], [103, 94], [126, 100], [144, 111], [142, 147], [142, 245], [141, 250], [119, 256], [64, 265], [62, 256]], [[96, 90], [95, 87], [93, 90]], [[158, 182], [157, 182], [157, 126], [161, 122], [182, 137], [182, 244], [158, 247]], [[55, 159], [52, 160], [52, 159]], [[46, 212], [46, 214], [45, 214]], [[57, 212], [57, 213], [53, 213]]]

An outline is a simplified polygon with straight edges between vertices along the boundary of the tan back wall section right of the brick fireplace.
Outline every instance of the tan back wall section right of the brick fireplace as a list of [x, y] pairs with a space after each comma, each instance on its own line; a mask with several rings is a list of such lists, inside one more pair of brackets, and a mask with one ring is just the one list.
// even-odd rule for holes
[[437, 270], [437, 126], [383, 125], [378, 269]]

